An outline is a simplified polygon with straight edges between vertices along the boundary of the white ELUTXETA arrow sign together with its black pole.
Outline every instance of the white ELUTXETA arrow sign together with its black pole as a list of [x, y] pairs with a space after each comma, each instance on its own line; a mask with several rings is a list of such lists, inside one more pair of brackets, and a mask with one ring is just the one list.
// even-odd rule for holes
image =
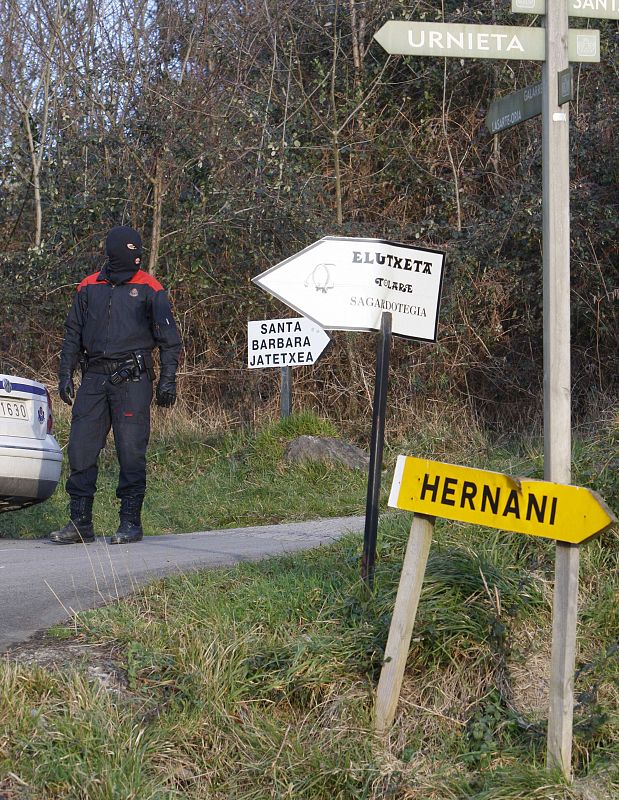
[[383, 239], [326, 236], [253, 278], [331, 330], [379, 331], [361, 577], [374, 580], [391, 336], [436, 341], [445, 254]]

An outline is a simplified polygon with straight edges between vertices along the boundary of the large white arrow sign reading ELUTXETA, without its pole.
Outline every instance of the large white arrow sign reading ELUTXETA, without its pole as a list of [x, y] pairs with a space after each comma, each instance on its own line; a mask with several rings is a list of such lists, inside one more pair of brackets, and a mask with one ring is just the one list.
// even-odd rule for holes
[[445, 254], [382, 239], [325, 236], [253, 278], [299, 314], [331, 330], [392, 332], [436, 341]]

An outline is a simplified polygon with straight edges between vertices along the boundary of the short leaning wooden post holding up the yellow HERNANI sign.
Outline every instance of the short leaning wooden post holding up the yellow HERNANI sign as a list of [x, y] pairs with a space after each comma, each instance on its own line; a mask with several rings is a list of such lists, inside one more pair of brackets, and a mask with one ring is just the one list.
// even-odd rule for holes
[[395, 717], [433, 532], [434, 517], [415, 514], [376, 690], [374, 724], [378, 734], [387, 733]]

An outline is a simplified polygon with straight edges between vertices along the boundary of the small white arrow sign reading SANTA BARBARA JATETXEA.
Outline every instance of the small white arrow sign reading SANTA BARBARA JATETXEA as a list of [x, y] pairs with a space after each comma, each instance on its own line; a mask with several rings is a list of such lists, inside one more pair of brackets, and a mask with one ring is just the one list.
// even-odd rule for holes
[[247, 323], [247, 366], [298, 367], [314, 364], [331, 339], [305, 317]]

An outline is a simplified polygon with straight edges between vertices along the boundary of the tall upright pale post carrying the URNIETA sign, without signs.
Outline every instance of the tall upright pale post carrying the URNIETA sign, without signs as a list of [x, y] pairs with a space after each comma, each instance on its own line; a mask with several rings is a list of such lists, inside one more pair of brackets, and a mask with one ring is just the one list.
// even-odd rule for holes
[[[571, 481], [569, 112], [559, 106], [568, 68], [567, 0], [547, 0], [542, 68], [544, 251], [544, 477]], [[557, 541], [552, 624], [548, 767], [571, 775], [578, 546]]]

